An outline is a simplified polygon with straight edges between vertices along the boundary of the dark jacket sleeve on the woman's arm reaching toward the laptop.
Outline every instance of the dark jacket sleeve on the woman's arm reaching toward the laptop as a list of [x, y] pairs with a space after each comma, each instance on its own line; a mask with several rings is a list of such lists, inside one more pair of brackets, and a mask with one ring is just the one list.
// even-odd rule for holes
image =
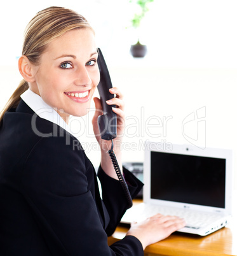
[[[71, 141], [72, 142], [72, 141]], [[27, 159], [21, 190], [53, 255], [143, 255], [137, 238], [111, 248], [88, 190], [85, 154], [43, 138]]]

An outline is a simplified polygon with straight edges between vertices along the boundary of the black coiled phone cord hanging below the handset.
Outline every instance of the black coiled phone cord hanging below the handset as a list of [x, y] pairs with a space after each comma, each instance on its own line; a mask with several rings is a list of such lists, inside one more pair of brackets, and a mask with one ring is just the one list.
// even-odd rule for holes
[[123, 187], [123, 190], [125, 192], [125, 196], [126, 196], [126, 199], [128, 200], [128, 208], [131, 208], [132, 205], [133, 205], [133, 202], [132, 202], [132, 197], [130, 195], [130, 192], [128, 190], [128, 185], [126, 184], [126, 181], [125, 181], [125, 178], [123, 177], [123, 174], [121, 173], [121, 170], [119, 168], [119, 164], [118, 164], [118, 160], [116, 159], [116, 155], [114, 153], [114, 142], [112, 141], [111, 139], [111, 142], [112, 142], [112, 145], [111, 145], [111, 149], [108, 151], [109, 153], [109, 156], [111, 157], [111, 160], [112, 160], [112, 164], [114, 166], [114, 170], [118, 176], [118, 179]]

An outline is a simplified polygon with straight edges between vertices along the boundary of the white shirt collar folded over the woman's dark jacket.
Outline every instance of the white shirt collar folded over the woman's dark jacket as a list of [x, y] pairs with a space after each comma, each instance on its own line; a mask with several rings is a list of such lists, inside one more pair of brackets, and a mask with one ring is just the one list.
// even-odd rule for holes
[[26, 90], [21, 96], [23, 101], [41, 118], [46, 119], [54, 124], [59, 125], [65, 131], [75, 136], [69, 125], [60, 117], [60, 115], [51, 106], [43, 101], [43, 99], [32, 92], [32, 90]]

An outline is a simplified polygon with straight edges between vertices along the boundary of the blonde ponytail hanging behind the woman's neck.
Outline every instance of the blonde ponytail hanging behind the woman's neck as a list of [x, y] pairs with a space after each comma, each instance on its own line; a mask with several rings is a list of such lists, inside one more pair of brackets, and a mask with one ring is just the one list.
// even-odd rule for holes
[[3, 120], [4, 113], [10, 110], [11, 108], [17, 108], [20, 103], [20, 96], [29, 88], [28, 83], [23, 79], [18, 85], [15, 92], [13, 92], [12, 96], [4, 106], [3, 110], [0, 112], [0, 124]]

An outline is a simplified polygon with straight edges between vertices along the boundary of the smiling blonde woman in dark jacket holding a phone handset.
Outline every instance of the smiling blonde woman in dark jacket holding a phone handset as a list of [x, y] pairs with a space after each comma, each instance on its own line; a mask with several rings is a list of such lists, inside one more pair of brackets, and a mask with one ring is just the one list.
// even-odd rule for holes
[[[95, 170], [67, 126], [69, 115], [90, 110], [100, 79], [97, 58], [93, 29], [74, 11], [47, 8], [27, 26], [18, 61], [24, 80], [0, 119], [0, 255], [137, 256], [184, 225], [156, 215], [107, 246], [128, 203], [107, 153], [111, 143], [98, 135], [100, 100], [94, 99], [93, 129], [101, 148], [103, 200]], [[116, 105], [119, 145], [123, 95], [117, 88], [110, 92], [116, 94], [107, 104]], [[114, 151], [121, 166], [119, 146]], [[134, 197], [142, 183], [126, 169], [123, 175]]]

